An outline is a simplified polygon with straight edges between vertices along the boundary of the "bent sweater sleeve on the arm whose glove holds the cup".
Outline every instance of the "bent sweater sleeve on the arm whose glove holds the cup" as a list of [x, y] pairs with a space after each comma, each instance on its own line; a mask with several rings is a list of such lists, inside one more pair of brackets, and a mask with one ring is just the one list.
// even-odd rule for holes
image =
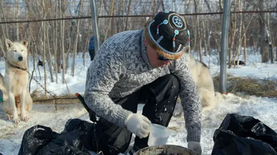
[[124, 122], [132, 112], [109, 98], [114, 84], [125, 74], [125, 56], [115, 44], [105, 43], [94, 59], [87, 71], [84, 101], [98, 116], [119, 127], [125, 127]]

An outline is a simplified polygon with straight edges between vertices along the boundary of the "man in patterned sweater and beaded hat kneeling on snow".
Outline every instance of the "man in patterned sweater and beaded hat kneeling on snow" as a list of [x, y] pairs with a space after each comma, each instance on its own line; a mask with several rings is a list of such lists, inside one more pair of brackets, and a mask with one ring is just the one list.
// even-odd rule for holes
[[[145, 28], [107, 39], [87, 71], [84, 100], [100, 119], [87, 123], [85, 147], [105, 155], [124, 153], [132, 133], [129, 154], [148, 147], [150, 123], [168, 127], [180, 95], [188, 148], [201, 154], [202, 104], [184, 55], [188, 49], [186, 21], [176, 12], [159, 12]], [[141, 100], [142, 115], [136, 113]]]

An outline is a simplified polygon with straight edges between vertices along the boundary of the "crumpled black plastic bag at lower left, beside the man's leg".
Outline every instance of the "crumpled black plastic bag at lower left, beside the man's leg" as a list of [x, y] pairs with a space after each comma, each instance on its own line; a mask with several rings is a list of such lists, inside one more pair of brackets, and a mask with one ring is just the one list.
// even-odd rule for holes
[[85, 131], [87, 131], [85, 124], [62, 134], [57, 134], [49, 127], [42, 125], [31, 127], [24, 133], [19, 155], [89, 155], [81, 142], [81, 136], [85, 134]]

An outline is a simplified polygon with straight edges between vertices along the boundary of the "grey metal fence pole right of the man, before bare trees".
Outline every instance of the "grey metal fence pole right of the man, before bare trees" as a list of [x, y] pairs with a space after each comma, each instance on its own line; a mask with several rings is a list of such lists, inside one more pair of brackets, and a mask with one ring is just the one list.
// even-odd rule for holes
[[222, 42], [221, 42], [221, 51], [220, 51], [220, 91], [221, 93], [227, 93], [226, 59], [227, 59], [227, 50], [228, 50], [228, 37], [229, 37], [230, 3], [231, 3], [231, 0], [224, 0], [224, 9], [223, 9], [223, 18], [222, 18]]

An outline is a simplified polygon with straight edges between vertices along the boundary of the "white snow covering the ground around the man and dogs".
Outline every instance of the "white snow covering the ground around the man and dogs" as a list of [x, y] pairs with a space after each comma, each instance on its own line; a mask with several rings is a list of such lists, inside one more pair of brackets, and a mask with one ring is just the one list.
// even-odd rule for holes
[[[260, 55], [248, 55], [247, 66], [239, 66], [238, 69], [228, 69], [227, 73], [235, 76], [247, 76], [253, 78], [267, 78], [269, 80], [277, 80], [277, 64], [260, 63]], [[242, 59], [240, 59], [242, 60]], [[31, 62], [31, 60], [30, 60]], [[217, 66], [216, 57], [204, 57], [204, 62], [210, 66], [213, 75], [220, 71]], [[69, 62], [71, 64], [71, 62]], [[69, 86], [70, 93], [84, 93], [84, 82], [87, 75], [87, 69], [90, 61], [86, 60], [85, 66], [82, 65], [82, 59], [78, 58], [75, 64], [75, 75], [71, 76], [71, 69], [66, 73], [65, 79]], [[30, 65], [30, 71], [33, 66]], [[44, 84], [43, 67], [39, 66], [42, 79], [39, 79], [39, 73], [36, 69], [35, 78], [41, 84]], [[5, 73], [5, 62], [0, 62], [0, 73]], [[47, 89], [56, 95], [64, 95], [69, 93], [66, 84], [61, 84], [62, 75], [58, 75], [59, 84], [51, 82], [48, 74]], [[55, 81], [55, 77], [54, 81]], [[31, 91], [38, 89], [42, 91], [35, 81], [31, 83]], [[42, 91], [43, 93], [43, 91]], [[139, 104], [139, 112], [143, 105]], [[44, 125], [51, 127], [53, 131], [60, 132], [64, 129], [64, 124], [69, 118], [81, 118], [88, 120], [87, 111], [78, 104], [58, 104], [57, 111], [53, 104], [35, 104], [33, 111], [29, 113], [29, 122], [20, 122], [15, 126], [12, 120], [5, 120], [3, 111], [0, 110], [0, 153], [1, 154], [17, 154], [21, 145], [21, 140], [26, 129], [34, 125]], [[213, 133], [217, 129], [227, 113], [238, 113], [244, 116], [253, 116], [266, 125], [277, 131], [277, 98], [260, 98], [256, 96], [239, 97], [229, 93], [225, 95], [224, 100], [218, 104], [212, 111], [206, 111], [202, 117], [202, 149], [203, 154], [211, 154], [213, 149]], [[174, 128], [168, 144], [181, 145], [186, 147], [186, 129], [183, 116], [173, 117], [169, 127]], [[133, 145], [133, 142], [131, 143]]]

